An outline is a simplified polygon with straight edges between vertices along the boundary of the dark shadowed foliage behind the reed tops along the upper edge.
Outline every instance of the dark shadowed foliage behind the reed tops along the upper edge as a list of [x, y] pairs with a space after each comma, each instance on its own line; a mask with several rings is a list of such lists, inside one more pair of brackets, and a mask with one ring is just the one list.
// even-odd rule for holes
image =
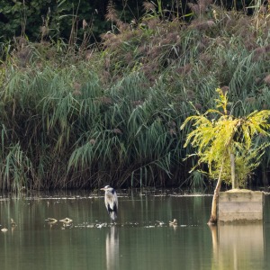
[[[189, 2], [195, 3], [195, 1], [186, 0], [151, 1], [150, 3], [153, 4], [155, 10], [152, 15], [165, 20], [173, 20], [175, 17], [189, 19], [191, 12], [187, 4]], [[250, 2], [251, 0], [221, 0], [216, 4], [226, 8], [243, 10]], [[122, 22], [138, 23], [141, 15], [145, 13], [148, 1], [2, 0], [0, 5], [0, 42], [25, 35], [31, 41], [37, 41], [42, 39], [44, 34], [47, 40], [69, 40], [76, 30], [76, 42], [79, 43], [84, 37], [83, 20], [91, 28], [93, 35], [91, 40], [98, 40], [99, 35], [104, 31], [112, 30], [110, 23], [105, 20], [110, 3]], [[252, 13], [253, 9], [246, 11]]]

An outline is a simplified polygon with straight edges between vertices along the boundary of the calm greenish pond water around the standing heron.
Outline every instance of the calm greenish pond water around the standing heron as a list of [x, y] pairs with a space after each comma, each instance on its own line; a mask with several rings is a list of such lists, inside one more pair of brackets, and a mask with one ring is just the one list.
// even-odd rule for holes
[[[2, 196], [0, 229], [7, 230], [0, 231], [1, 270], [270, 267], [269, 196], [264, 224], [213, 229], [206, 224], [211, 195], [118, 191], [118, 196], [115, 224], [99, 192]], [[65, 218], [72, 221], [59, 221]], [[169, 225], [174, 219], [177, 226]]]

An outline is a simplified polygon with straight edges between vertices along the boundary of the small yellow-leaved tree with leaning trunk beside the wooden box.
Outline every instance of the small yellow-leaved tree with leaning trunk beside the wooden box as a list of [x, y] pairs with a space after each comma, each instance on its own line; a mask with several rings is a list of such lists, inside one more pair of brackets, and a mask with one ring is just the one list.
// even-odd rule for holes
[[[216, 99], [216, 108], [185, 119], [181, 129], [188, 122], [193, 123], [193, 130], [187, 135], [184, 147], [189, 143], [196, 148], [195, 154], [198, 164], [208, 165], [208, 175], [217, 179], [215, 188], [211, 223], [216, 222], [216, 202], [222, 181], [231, 183], [231, 160], [233, 155], [236, 179], [244, 185], [248, 175], [259, 165], [264, 149], [269, 143], [257, 144], [258, 136], [269, 136], [267, 131], [270, 124], [269, 110], [255, 111], [244, 117], [235, 117], [227, 110], [228, 96], [220, 88], [217, 89], [219, 99]], [[213, 117], [214, 116], [214, 117]]]

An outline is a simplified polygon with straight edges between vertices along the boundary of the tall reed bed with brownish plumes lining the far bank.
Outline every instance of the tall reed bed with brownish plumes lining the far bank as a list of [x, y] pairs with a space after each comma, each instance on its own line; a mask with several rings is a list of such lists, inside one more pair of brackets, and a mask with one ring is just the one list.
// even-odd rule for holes
[[[210, 0], [188, 6], [190, 22], [145, 2], [130, 24], [110, 3], [111, 31], [95, 44], [84, 23], [67, 42], [44, 31], [39, 42], [23, 33], [2, 43], [0, 187], [208, 183], [189, 174], [193, 127], [180, 126], [214, 106], [218, 86], [235, 116], [270, 108], [269, 6], [258, 1], [252, 15]], [[268, 184], [269, 160], [266, 151], [249, 183]]]

